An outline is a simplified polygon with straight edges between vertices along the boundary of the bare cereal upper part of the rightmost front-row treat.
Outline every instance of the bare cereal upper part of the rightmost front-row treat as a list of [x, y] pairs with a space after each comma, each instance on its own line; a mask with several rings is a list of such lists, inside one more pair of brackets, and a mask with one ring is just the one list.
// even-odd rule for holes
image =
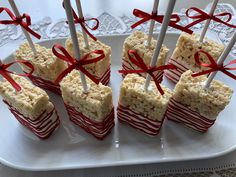
[[173, 99], [201, 116], [215, 120], [229, 104], [233, 90], [217, 80], [212, 81], [209, 89], [204, 89], [206, 80], [206, 76], [192, 77], [192, 71], [186, 71], [175, 86]]

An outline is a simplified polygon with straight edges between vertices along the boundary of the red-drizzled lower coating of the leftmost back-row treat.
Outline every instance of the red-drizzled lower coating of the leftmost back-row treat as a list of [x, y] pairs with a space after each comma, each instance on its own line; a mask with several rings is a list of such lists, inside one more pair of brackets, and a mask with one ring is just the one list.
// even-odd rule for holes
[[55, 84], [52, 81], [42, 79], [41, 77], [30, 75], [28, 78], [32, 81], [32, 83], [40, 88], [49, 90], [53, 93], [61, 95], [61, 90], [59, 84]]

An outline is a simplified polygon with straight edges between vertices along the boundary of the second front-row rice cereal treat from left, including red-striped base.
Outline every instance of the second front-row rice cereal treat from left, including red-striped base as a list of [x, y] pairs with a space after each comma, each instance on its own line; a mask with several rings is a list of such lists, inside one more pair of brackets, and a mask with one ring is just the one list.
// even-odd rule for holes
[[114, 127], [112, 90], [87, 78], [89, 91], [83, 91], [80, 74], [73, 70], [60, 82], [70, 120], [98, 139], [103, 139]]

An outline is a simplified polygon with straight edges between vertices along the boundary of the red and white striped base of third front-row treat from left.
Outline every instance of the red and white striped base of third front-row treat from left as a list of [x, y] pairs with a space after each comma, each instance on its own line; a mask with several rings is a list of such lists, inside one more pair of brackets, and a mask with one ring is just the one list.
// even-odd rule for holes
[[148, 134], [155, 136], [159, 133], [164, 116], [162, 121], [152, 120], [142, 114], [136, 113], [131, 109], [122, 106], [121, 104], [117, 107], [117, 117], [121, 122], [128, 123], [130, 126]]

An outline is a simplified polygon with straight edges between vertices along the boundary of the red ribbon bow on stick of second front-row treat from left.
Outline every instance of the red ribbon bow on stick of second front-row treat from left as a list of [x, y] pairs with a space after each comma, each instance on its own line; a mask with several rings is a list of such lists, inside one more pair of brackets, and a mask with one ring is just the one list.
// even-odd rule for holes
[[[60, 50], [60, 52], [58, 52], [57, 49]], [[86, 54], [85, 56], [83, 56], [80, 60], [77, 60], [77, 59], [73, 58], [72, 56], [70, 56], [70, 54], [66, 51], [66, 49], [63, 46], [61, 46], [60, 44], [55, 44], [52, 47], [52, 52], [59, 59], [62, 59], [64, 61], [66, 61], [67, 63], [69, 63], [69, 67], [66, 70], [64, 70], [57, 77], [55, 83], [58, 84], [63, 79], [63, 77], [65, 77], [73, 69], [77, 69], [77, 70], [80, 70], [82, 73], [84, 73], [87, 77], [89, 77], [93, 82], [95, 82], [96, 84], [99, 84], [99, 80], [96, 79], [92, 74], [90, 74], [86, 69], [84, 69], [83, 66], [91, 64], [91, 63], [95, 63], [95, 62], [98, 62], [98, 61], [104, 59], [105, 54], [104, 54], [103, 50], [94, 50], [94, 51]], [[89, 58], [89, 56], [91, 54], [97, 54], [99, 56], [96, 58]]]

